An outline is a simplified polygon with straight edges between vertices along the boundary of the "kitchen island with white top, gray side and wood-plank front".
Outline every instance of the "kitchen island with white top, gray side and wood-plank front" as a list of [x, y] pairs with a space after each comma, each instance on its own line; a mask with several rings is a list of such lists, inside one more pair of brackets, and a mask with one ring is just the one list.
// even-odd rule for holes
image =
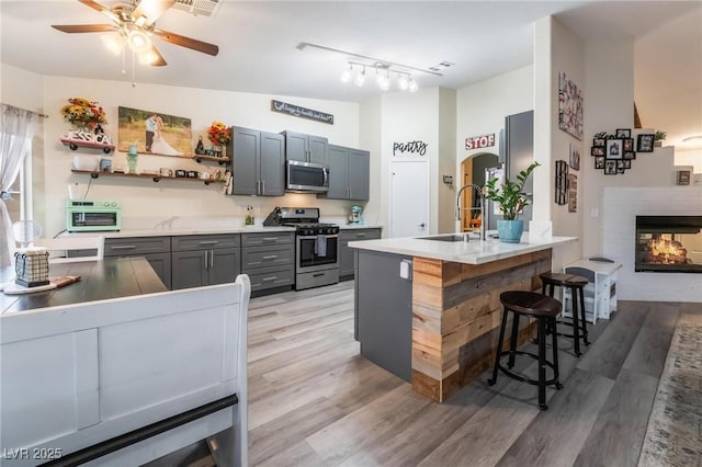
[[[355, 338], [361, 354], [443, 402], [495, 356], [505, 291], [540, 291], [552, 249], [576, 241], [395, 238], [355, 249]], [[438, 239], [437, 239], [438, 238]], [[524, 323], [519, 341], [530, 337]]]

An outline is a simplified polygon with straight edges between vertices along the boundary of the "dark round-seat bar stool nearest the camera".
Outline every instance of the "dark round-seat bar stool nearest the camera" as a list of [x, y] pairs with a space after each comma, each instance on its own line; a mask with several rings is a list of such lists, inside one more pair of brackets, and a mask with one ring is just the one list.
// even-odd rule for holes
[[[507, 376], [518, 379], [520, 381], [529, 383], [530, 385], [539, 386], [539, 408], [541, 410], [547, 410], [546, 405], [546, 386], [555, 385], [556, 389], [563, 388], [563, 385], [558, 381], [558, 344], [556, 333], [552, 333], [552, 346], [553, 346], [553, 361], [546, 360], [546, 327], [556, 326], [556, 317], [561, 314], [563, 306], [561, 301], [555, 298], [547, 297], [543, 294], [525, 291], [508, 291], [500, 294], [500, 303], [502, 304], [502, 326], [500, 327], [500, 337], [497, 342], [497, 350], [495, 352], [495, 366], [492, 367], [492, 377], [487, 380], [487, 384], [492, 386], [497, 383], [498, 369], [505, 373]], [[502, 342], [505, 340], [505, 330], [507, 328], [507, 316], [512, 312], [512, 334], [510, 340], [510, 350], [502, 351]], [[539, 344], [539, 353], [518, 351], [517, 338], [519, 335], [519, 318], [520, 316], [536, 318], [537, 333], [536, 340]], [[514, 366], [516, 355], [526, 355], [539, 361], [539, 379], [530, 379], [525, 376], [519, 375], [505, 368], [500, 364], [502, 356], [509, 355], [508, 366], [511, 369]], [[546, 379], [546, 366], [553, 371], [553, 377]]]

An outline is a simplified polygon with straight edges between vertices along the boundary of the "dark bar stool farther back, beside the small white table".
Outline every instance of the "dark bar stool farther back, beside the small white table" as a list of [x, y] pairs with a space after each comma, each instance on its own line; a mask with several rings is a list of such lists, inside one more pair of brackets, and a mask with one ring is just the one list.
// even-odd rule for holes
[[[582, 343], [590, 345], [588, 341], [588, 322], [585, 319], [585, 286], [588, 285], [586, 277], [576, 274], [561, 274], [561, 273], [543, 273], [539, 277], [542, 282], [541, 293], [546, 295], [546, 286], [548, 286], [548, 296], [553, 297], [555, 286], [567, 287], [570, 289], [570, 297], [573, 301], [571, 322], [556, 321], [554, 326], [554, 333], [563, 335], [564, 338], [571, 338], [574, 340], [574, 348], [576, 356], [582, 355], [580, 352], [580, 331], [582, 331]], [[579, 304], [578, 304], [579, 303]], [[580, 309], [580, 317], [578, 317], [578, 308]], [[558, 323], [573, 327], [573, 334], [564, 334], [557, 332], [556, 326]]]

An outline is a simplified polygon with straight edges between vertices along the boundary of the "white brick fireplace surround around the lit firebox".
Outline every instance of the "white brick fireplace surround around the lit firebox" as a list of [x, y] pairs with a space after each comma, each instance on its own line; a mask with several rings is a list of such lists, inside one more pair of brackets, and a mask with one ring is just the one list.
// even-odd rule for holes
[[702, 276], [634, 272], [636, 216], [701, 216], [702, 186], [604, 189], [602, 254], [622, 263], [618, 297], [622, 300], [702, 301]]

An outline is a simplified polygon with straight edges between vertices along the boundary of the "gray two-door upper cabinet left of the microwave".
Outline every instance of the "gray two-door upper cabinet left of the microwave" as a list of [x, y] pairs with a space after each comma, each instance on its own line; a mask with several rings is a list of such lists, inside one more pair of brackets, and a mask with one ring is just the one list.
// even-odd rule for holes
[[282, 135], [233, 127], [233, 190], [236, 195], [285, 194], [285, 145]]

